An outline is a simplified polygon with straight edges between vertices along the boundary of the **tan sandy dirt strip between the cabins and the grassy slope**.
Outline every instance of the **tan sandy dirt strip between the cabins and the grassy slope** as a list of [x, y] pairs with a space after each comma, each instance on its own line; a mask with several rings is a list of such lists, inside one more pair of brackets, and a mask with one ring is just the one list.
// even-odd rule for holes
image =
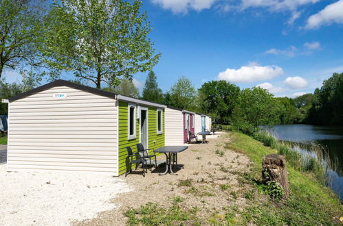
[[[158, 173], [165, 170], [161, 166], [148, 171], [146, 177], [142, 176], [141, 169], [127, 177], [121, 176], [134, 190], [112, 200], [120, 208], [101, 212], [96, 218], [74, 222], [74, 225], [125, 225], [124, 212], [128, 208], [139, 208], [148, 202], [168, 208], [170, 200], [176, 196], [184, 198], [190, 208], [199, 207], [197, 216], [202, 218], [210, 217], [212, 210], [230, 205], [244, 208], [245, 198], [236, 195], [243, 190], [237, 172], [247, 171], [250, 161], [241, 153], [225, 149], [228, 142], [228, 134], [221, 134], [209, 139], [208, 144], [190, 145], [178, 155], [179, 164], [184, 166], [177, 171], [178, 175], [159, 176]], [[157, 159], [164, 160], [165, 156], [160, 155]], [[223, 190], [223, 184], [227, 184], [228, 189]]]

